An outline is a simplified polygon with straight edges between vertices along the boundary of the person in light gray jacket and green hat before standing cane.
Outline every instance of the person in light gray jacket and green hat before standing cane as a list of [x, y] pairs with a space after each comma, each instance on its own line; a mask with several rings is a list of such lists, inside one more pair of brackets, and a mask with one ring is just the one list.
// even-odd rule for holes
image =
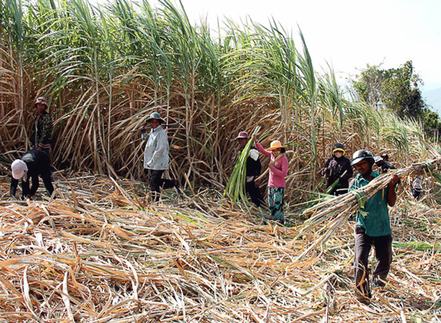
[[160, 187], [163, 189], [176, 187], [178, 193], [178, 179], [166, 180], [162, 178], [165, 170], [169, 169], [169, 141], [165, 130], [161, 124], [164, 120], [157, 112], [153, 112], [147, 119], [150, 123], [150, 134], [145, 129], [142, 130], [141, 138], [147, 140], [144, 151], [144, 172], [150, 173], [150, 189], [155, 192], [155, 201], [159, 201]]

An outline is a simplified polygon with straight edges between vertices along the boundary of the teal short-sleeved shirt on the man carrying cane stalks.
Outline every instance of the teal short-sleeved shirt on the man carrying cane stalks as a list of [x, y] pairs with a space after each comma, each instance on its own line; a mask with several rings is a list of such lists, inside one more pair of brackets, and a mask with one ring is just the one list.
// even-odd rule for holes
[[[373, 178], [380, 176], [377, 171], [372, 172], [371, 175]], [[367, 179], [357, 174], [349, 190], [368, 184], [369, 181]], [[392, 234], [388, 211], [388, 194], [389, 185], [376, 192], [365, 203], [364, 208], [361, 210], [368, 213], [366, 216], [363, 216], [359, 211], [357, 212], [357, 225], [365, 228], [368, 236], [379, 237]]]

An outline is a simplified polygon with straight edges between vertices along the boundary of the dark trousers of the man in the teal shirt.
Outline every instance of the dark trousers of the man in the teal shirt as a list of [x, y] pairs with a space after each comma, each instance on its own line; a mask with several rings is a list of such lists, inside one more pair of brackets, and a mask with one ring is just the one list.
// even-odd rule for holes
[[372, 273], [372, 280], [386, 280], [392, 263], [392, 236], [371, 237], [366, 235], [365, 228], [355, 227], [355, 288], [365, 296], [370, 295], [368, 256], [371, 246], [375, 249], [377, 266]]

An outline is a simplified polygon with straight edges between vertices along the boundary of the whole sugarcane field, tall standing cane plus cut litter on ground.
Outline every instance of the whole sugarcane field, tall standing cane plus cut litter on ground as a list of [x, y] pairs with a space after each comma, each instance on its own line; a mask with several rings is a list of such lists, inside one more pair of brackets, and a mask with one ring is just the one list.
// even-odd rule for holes
[[[441, 322], [437, 138], [344, 94], [301, 26], [225, 19], [215, 34], [160, 3], [0, 1], [0, 322]], [[24, 182], [14, 197], [11, 162], [33, 148], [39, 97], [51, 172], [32, 177], [32, 197]], [[155, 112], [169, 143], [163, 177], [176, 179], [157, 199], [140, 131]], [[286, 148], [284, 222], [246, 194], [254, 138]], [[396, 169], [326, 194], [336, 142], [349, 159], [388, 154]], [[266, 202], [277, 159], [260, 160]], [[395, 175], [392, 264], [367, 302], [354, 215]], [[373, 251], [368, 262], [373, 271]]]

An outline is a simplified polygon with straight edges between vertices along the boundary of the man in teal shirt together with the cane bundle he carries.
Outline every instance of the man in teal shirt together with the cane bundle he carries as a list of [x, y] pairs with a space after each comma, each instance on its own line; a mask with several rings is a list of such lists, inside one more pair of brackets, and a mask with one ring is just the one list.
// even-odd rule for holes
[[[298, 231], [297, 237], [306, 231], [315, 229], [316, 236], [303, 252], [297, 257], [300, 261], [306, 254], [319, 244], [323, 246], [329, 237], [356, 213], [355, 243], [354, 243], [354, 273], [357, 299], [369, 303], [371, 285], [382, 288], [387, 283], [387, 277], [392, 263], [392, 230], [388, 207], [396, 202], [395, 186], [400, 178], [427, 170], [432, 173], [441, 164], [441, 156], [422, 163], [396, 169], [380, 175], [373, 171], [375, 158], [366, 149], [356, 151], [350, 164], [358, 174], [354, 177], [346, 194], [336, 196], [303, 211], [309, 217]], [[432, 175], [434, 175], [432, 173]], [[436, 176], [434, 176], [436, 177]], [[377, 264], [369, 278], [368, 255], [371, 248], [375, 250]]]

